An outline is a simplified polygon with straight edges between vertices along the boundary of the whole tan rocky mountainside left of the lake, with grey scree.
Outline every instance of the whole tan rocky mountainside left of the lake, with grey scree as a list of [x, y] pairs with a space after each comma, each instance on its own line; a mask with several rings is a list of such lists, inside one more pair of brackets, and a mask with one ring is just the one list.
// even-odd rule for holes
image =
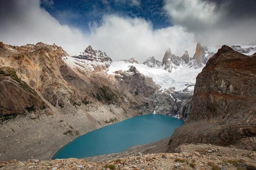
[[49, 159], [110, 119], [152, 111], [155, 83], [135, 68], [123, 80], [104, 74], [111, 59], [90, 46], [72, 56], [41, 42], [0, 49], [0, 160]]

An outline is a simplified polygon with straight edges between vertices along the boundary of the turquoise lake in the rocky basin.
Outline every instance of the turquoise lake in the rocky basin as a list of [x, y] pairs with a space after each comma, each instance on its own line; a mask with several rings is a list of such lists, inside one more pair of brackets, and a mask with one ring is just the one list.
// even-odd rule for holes
[[183, 121], [168, 115], [132, 117], [77, 137], [58, 150], [52, 159], [83, 158], [123, 152], [132, 146], [170, 137]]

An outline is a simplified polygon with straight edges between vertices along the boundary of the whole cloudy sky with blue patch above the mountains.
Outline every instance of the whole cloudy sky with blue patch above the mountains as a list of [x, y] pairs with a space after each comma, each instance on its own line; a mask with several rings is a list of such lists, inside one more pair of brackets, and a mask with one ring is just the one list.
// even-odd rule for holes
[[55, 43], [67, 53], [91, 45], [112, 60], [167, 48], [190, 57], [204, 46], [256, 45], [255, 0], [0, 0], [0, 41]]

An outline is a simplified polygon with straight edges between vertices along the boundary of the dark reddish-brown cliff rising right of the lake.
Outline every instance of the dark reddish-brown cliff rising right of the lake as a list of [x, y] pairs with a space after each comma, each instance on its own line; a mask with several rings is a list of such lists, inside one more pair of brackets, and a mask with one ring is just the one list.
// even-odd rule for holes
[[198, 75], [189, 119], [175, 130], [169, 151], [183, 143], [256, 150], [255, 65], [256, 57], [222, 46]]

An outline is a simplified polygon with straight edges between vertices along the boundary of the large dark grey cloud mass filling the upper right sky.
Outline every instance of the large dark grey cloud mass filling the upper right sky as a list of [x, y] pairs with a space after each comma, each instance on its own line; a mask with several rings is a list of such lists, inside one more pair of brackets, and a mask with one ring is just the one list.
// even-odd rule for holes
[[[234, 3], [234, 1], [238, 2]], [[195, 33], [207, 46], [256, 44], [255, 9], [245, 0], [165, 0], [164, 9], [171, 22]]]

